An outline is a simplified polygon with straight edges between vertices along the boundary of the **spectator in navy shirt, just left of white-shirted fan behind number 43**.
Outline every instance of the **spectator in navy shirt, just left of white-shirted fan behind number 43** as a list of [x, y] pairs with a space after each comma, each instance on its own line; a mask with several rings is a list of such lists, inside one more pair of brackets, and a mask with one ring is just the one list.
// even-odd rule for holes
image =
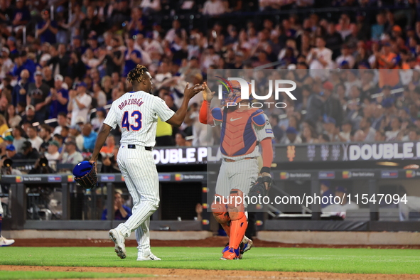
[[67, 114], [68, 90], [63, 88], [63, 75], [55, 75], [54, 88], [50, 88], [50, 95], [48, 95], [45, 102], [50, 104], [50, 119], [56, 118], [58, 113], [64, 112]]

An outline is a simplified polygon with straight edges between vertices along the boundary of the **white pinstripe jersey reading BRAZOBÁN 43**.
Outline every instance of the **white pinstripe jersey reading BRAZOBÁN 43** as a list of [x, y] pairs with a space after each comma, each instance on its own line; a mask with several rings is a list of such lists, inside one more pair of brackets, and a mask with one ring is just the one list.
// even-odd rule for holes
[[158, 117], [163, 122], [175, 114], [163, 99], [147, 92], [126, 92], [112, 102], [104, 124], [121, 128], [120, 144], [155, 146]]

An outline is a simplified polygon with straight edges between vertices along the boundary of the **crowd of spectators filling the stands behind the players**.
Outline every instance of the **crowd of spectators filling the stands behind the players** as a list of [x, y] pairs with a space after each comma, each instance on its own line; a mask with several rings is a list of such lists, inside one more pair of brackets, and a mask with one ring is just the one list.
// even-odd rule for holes
[[[153, 94], [174, 111], [186, 83], [203, 82], [209, 69], [271, 69], [253, 74], [260, 92], [270, 79], [296, 81], [297, 100], [284, 96], [278, 101], [286, 108], [262, 108], [279, 144], [418, 140], [414, 1], [366, 12], [340, 9], [333, 16], [240, 16], [377, 2], [0, 0], [0, 154], [79, 162], [92, 151], [108, 105], [131, 90], [126, 75], [137, 64], [146, 65]], [[189, 11], [208, 25], [177, 16]], [[202, 101], [201, 95], [191, 100], [180, 128], [159, 120], [156, 145], [216, 143], [217, 131], [208, 135], [198, 122]], [[112, 131], [102, 151], [110, 171], [118, 168], [120, 135]]]

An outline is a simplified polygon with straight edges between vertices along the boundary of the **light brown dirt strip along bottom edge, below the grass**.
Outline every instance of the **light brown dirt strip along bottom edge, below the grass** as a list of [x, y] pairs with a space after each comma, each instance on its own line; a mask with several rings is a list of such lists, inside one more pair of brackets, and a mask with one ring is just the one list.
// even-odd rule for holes
[[[200, 269], [149, 269], [140, 267], [72, 267], [72, 266], [1, 266], [9, 271], [77, 271], [124, 274], [148, 274], [154, 279], [294, 279], [294, 280], [414, 280], [414, 274], [338, 274], [322, 272], [282, 272], [282, 271], [233, 271]], [[144, 278], [142, 278], [144, 279]]]

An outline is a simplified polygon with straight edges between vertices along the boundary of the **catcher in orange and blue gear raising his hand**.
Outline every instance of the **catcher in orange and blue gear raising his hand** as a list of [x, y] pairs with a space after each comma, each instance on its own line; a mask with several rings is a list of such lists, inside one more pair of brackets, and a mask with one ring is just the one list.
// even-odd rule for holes
[[[257, 178], [264, 179], [265, 190], [254, 187], [252, 193], [268, 190], [271, 181], [270, 167], [273, 161], [271, 139], [274, 138], [269, 120], [262, 109], [252, 108], [249, 99], [241, 99], [239, 82], [230, 82], [230, 91], [223, 92], [223, 107], [210, 110], [214, 95], [207, 84], [203, 91], [204, 102], [200, 109], [200, 122], [211, 126], [220, 125], [220, 151], [222, 166], [216, 183], [212, 212], [217, 222], [229, 236], [229, 244], [222, 250], [220, 259], [241, 259], [242, 254], [253, 246], [245, 236], [247, 230], [246, 202], [237, 204], [237, 196], [244, 197]], [[251, 90], [249, 90], [251, 92]], [[258, 170], [257, 158], [262, 146], [263, 167]]]

